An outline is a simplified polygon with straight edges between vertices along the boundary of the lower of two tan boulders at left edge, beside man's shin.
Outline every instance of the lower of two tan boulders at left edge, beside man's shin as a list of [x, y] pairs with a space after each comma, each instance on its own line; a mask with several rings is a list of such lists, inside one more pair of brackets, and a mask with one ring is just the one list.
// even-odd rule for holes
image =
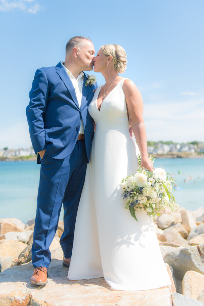
[[11, 256], [13, 259], [18, 258], [19, 254], [27, 247], [27, 244], [20, 241], [9, 240], [0, 245], [0, 259]]

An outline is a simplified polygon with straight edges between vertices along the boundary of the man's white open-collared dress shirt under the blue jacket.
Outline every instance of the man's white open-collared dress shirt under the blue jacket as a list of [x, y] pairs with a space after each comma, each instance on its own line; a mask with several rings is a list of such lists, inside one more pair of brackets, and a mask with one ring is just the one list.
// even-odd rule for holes
[[[79, 103], [79, 107], [81, 107], [81, 98], [82, 98], [82, 88], [83, 88], [83, 83], [84, 83], [84, 73], [81, 72], [79, 73], [79, 75], [77, 76], [77, 78], [75, 78], [75, 76], [73, 76], [73, 74], [71, 73], [70, 70], [68, 70], [65, 65], [64, 62], [61, 62], [62, 67], [64, 67], [66, 73], [68, 74], [75, 92], [76, 92], [76, 96], [77, 96], [77, 101]], [[83, 120], [81, 119], [81, 127], [79, 130], [79, 134], [84, 134], [84, 124], [83, 124]]]

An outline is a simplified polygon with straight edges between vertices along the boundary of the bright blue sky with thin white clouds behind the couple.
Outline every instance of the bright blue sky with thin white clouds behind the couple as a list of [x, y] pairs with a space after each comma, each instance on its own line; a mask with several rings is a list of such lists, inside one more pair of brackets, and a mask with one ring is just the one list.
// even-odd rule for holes
[[96, 52], [107, 43], [126, 50], [123, 76], [142, 93], [148, 140], [204, 141], [203, 16], [203, 0], [0, 0], [0, 148], [31, 146], [35, 71], [64, 60], [75, 35], [89, 36]]

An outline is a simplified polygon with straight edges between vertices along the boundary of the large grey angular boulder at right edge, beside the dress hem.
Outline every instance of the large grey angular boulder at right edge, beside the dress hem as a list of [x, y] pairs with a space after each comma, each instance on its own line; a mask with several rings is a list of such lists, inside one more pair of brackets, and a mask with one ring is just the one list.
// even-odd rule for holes
[[173, 267], [174, 275], [179, 279], [190, 270], [204, 274], [204, 244], [168, 253], [164, 262]]

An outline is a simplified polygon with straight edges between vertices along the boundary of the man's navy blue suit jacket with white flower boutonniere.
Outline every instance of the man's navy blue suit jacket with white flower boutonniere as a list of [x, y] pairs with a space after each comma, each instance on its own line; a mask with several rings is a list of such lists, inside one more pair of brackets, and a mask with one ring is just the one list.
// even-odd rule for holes
[[74, 86], [60, 62], [56, 67], [37, 69], [26, 108], [35, 153], [46, 149], [46, 154], [55, 159], [71, 155], [82, 119], [89, 162], [94, 127], [88, 106], [97, 84], [85, 86], [86, 80], [85, 74], [79, 107]]

